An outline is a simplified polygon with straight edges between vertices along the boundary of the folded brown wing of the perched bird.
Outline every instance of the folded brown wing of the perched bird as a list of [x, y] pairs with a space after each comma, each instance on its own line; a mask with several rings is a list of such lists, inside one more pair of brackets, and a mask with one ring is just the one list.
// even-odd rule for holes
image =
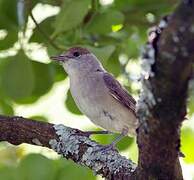
[[121, 84], [109, 73], [104, 73], [104, 82], [109, 89], [110, 95], [122, 105], [131, 110], [135, 115], [135, 99], [121, 86]]

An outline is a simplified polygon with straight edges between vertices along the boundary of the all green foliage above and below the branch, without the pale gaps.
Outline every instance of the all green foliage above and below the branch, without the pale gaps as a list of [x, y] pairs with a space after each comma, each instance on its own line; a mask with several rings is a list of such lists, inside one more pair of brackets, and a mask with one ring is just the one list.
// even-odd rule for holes
[[[49, 56], [62, 52], [69, 47], [80, 45], [90, 49], [103, 63], [105, 68], [116, 77], [126, 79], [130, 73], [123, 72], [119, 57], [137, 61], [140, 49], [146, 43], [147, 30], [164, 15], [171, 13], [177, 0], [114, 0], [103, 5], [99, 0], [26, 0], [24, 11], [17, 0], [0, 0], [0, 54], [9, 48], [15, 55], [0, 56], [0, 113], [14, 114], [14, 104], [31, 104], [47, 94], [53, 85], [66, 78], [61, 66], [45, 64], [28, 55], [28, 44], [37, 43], [46, 48]], [[60, 11], [51, 15], [35, 27], [30, 37], [23, 39], [29, 30], [27, 25], [29, 10], [38, 3], [58, 6]], [[44, 9], [42, 9], [44, 11]], [[24, 25], [19, 25], [18, 13], [23, 15]], [[24, 28], [25, 27], [25, 28]], [[5, 36], [2, 34], [5, 33]], [[22, 35], [21, 35], [22, 34]], [[52, 46], [50, 41], [59, 48]], [[17, 45], [15, 45], [15, 43]], [[4, 50], [4, 51], [3, 51]], [[131, 88], [130, 88], [131, 90]], [[132, 89], [131, 93], [134, 92]], [[190, 117], [194, 112], [191, 93], [189, 103]], [[64, 105], [74, 114], [81, 114], [68, 91]], [[33, 118], [47, 121], [42, 115]], [[115, 135], [95, 136], [101, 143], [110, 143]], [[194, 162], [192, 140], [193, 131], [188, 128], [182, 133], [182, 151], [186, 162]], [[133, 142], [126, 137], [120, 142], [119, 149], [125, 150]], [[73, 173], [72, 173], [73, 172]], [[41, 155], [30, 155], [21, 160], [18, 167], [0, 168], [2, 180], [63, 180], [95, 179], [90, 171], [63, 159], [49, 160]]]

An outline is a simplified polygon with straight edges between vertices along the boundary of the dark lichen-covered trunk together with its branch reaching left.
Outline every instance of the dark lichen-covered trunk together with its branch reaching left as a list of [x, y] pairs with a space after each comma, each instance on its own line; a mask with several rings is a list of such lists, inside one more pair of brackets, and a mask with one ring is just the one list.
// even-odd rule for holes
[[180, 126], [186, 115], [194, 60], [194, 2], [184, 0], [168, 22], [151, 34], [143, 58], [143, 92], [138, 102], [138, 167], [84, 132], [22, 117], [0, 116], [0, 140], [52, 148], [106, 179], [183, 179], [179, 163]]

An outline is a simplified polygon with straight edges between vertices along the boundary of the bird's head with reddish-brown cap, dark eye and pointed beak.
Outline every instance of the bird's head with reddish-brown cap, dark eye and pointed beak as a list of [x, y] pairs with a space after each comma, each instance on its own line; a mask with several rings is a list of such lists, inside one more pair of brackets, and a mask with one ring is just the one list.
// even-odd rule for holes
[[96, 56], [82, 47], [72, 47], [67, 52], [53, 56], [51, 59], [59, 62], [69, 75], [90, 73], [103, 69]]

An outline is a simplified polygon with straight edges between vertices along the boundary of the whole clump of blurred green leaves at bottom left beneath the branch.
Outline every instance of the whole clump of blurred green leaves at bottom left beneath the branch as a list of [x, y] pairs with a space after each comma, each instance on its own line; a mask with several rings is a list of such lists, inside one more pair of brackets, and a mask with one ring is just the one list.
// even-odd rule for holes
[[40, 154], [30, 154], [17, 167], [0, 167], [2, 180], [77, 180], [96, 179], [91, 170], [65, 159], [50, 160]]

